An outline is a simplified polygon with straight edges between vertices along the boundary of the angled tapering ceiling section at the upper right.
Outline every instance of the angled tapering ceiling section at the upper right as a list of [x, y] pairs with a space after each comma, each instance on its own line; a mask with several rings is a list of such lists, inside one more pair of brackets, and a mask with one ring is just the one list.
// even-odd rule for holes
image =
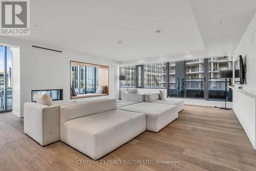
[[233, 55], [253, 15], [256, 0], [189, 0], [209, 55]]

